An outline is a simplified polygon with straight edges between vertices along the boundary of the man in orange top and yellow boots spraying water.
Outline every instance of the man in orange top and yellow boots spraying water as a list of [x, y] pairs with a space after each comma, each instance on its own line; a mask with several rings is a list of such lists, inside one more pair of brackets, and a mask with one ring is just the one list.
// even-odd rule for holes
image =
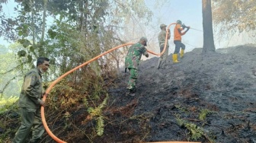
[[[181, 58], [183, 58], [184, 56], [184, 49], [185, 49], [185, 45], [184, 43], [181, 43], [181, 36], [183, 36], [185, 33], [187, 33], [187, 31], [190, 29], [190, 27], [186, 27], [184, 24], [182, 24], [180, 20], [177, 21], [176, 26], [174, 27], [174, 44], [175, 44], [175, 50], [174, 50], [174, 54], [172, 55], [172, 61], [174, 63], [179, 62], [178, 61], [178, 53], [180, 52], [180, 48], [181, 48]], [[184, 30], [185, 28], [187, 28], [187, 30], [185, 30], [184, 32], [182, 32], [182, 30]]]

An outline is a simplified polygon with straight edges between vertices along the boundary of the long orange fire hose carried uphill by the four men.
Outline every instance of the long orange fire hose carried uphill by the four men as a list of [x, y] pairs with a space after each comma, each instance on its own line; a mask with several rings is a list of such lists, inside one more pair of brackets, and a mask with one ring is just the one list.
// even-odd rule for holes
[[[176, 23], [172, 23], [172, 24], [176, 24]], [[152, 52], [152, 51], [148, 50], [149, 53], [152, 53], [155, 56], [162, 56], [162, 54], [165, 52], [167, 41], [168, 41], [167, 38], [168, 38], [169, 27], [171, 27], [172, 24], [169, 24], [168, 28], [166, 29], [167, 34], [166, 34], [166, 37], [165, 37], [165, 47], [164, 47], [163, 51], [160, 52], [160, 53], [155, 53], [155, 52]], [[90, 59], [88, 62], [85, 62], [82, 65], [78, 65], [77, 67], [73, 68], [72, 70], [67, 71], [64, 75], [61, 75], [59, 78], [57, 78], [55, 81], [53, 81], [52, 84], [50, 84], [50, 86], [46, 90], [46, 94], [44, 94], [44, 96], [43, 96], [43, 101], [46, 100], [46, 95], [50, 93], [50, 91], [52, 90], [54, 85], [57, 84], [62, 78], [65, 78], [67, 75], [71, 74], [73, 71], [77, 70], [78, 68], [82, 68], [83, 66], [88, 65], [90, 62], [93, 62], [96, 59], [101, 58], [101, 56], [104, 56], [107, 53], [114, 51], [115, 49], [119, 49], [120, 47], [128, 46], [128, 45], [133, 45], [133, 43], [125, 43], [123, 45], [116, 46], [113, 49], [110, 49], [107, 52], [104, 52], [101, 55], [96, 56], [93, 59]], [[66, 143], [66, 141], [62, 141], [61, 139], [59, 139], [55, 135], [53, 135], [53, 132], [51, 132], [49, 127], [47, 126], [46, 118], [44, 116], [44, 106], [41, 106], [41, 116], [42, 116], [43, 126], [46, 129], [46, 132], [48, 133], [48, 135], [50, 135], [50, 137], [53, 138], [58, 143]], [[163, 142], [165, 142], [165, 143], [186, 143], [186, 141], [163, 141]], [[160, 143], [160, 142], [155, 142], [155, 143]], [[194, 142], [189, 142], [189, 143], [194, 143]]]

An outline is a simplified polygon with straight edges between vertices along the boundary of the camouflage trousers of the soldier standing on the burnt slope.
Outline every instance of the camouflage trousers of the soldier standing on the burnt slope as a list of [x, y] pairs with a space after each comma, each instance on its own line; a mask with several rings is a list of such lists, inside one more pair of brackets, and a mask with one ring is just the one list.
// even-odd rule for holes
[[128, 81], [128, 85], [126, 89], [130, 91], [135, 91], [136, 90], [136, 82], [138, 79], [138, 70], [136, 68], [128, 68], [130, 71], [130, 78]]

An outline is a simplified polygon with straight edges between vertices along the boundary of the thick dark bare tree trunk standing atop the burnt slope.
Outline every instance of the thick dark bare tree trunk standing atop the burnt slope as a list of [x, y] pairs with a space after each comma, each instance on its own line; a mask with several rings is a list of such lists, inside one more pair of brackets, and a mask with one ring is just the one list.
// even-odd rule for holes
[[215, 52], [211, 0], [202, 0], [203, 6], [203, 53]]

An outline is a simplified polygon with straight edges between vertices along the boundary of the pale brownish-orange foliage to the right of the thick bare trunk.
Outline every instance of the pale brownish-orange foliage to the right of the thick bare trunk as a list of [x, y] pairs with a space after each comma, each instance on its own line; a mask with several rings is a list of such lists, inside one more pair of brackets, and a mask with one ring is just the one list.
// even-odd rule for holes
[[213, 0], [213, 24], [223, 37], [227, 34], [250, 33], [256, 37], [255, 0]]

